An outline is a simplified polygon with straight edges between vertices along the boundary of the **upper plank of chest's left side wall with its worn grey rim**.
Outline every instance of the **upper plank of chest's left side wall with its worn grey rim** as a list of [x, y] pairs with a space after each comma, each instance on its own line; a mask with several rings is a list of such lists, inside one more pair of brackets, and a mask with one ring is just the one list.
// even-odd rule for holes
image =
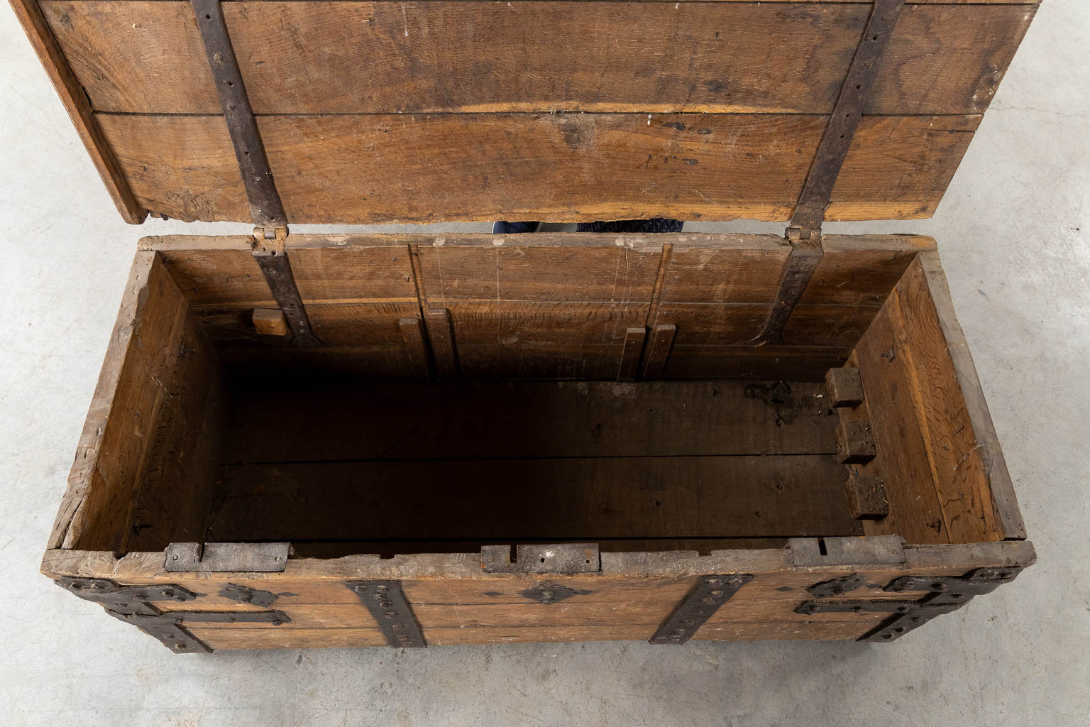
[[185, 327], [185, 300], [155, 253], [133, 263], [51, 542], [120, 548]]

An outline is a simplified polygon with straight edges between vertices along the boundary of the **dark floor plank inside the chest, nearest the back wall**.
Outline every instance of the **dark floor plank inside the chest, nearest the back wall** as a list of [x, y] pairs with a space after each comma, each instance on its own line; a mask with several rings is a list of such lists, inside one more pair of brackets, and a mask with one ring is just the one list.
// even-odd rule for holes
[[[226, 462], [824, 455], [822, 384], [300, 386], [233, 395]], [[360, 411], [368, 411], [360, 417]], [[277, 421], [270, 434], [269, 421]]]

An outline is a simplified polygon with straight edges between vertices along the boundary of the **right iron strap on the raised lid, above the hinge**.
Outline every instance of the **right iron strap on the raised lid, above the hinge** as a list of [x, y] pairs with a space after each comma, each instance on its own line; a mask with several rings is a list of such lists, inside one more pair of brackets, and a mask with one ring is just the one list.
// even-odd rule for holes
[[889, 45], [889, 36], [904, 4], [905, 0], [874, 1], [867, 31], [856, 47], [848, 75], [840, 87], [825, 135], [818, 146], [818, 154], [791, 216], [791, 227], [802, 230], [803, 238], [810, 237], [810, 230], [821, 228], [825, 218], [833, 186], [848, 156], [863, 116], [863, 106], [877, 75], [879, 61]]

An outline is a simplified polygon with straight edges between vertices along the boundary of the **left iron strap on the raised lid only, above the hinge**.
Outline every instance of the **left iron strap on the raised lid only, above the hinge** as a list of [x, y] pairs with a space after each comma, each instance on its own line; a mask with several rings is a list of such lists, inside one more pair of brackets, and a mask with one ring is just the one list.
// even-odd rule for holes
[[204, 41], [208, 66], [216, 83], [219, 104], [223, 108], [227, 131], [231, 135], [234, 156], [242, 172], [242, 185], [246, 190], [250, 214], [256, 227], [276, 229], [288, 226], [280, 195], [272, 181], [265, 145], [257, 131], [250, 98], [242, 83], [231, 37], [227, 33], [220, 0], [191, 0], [196, 14], [197, 28]]

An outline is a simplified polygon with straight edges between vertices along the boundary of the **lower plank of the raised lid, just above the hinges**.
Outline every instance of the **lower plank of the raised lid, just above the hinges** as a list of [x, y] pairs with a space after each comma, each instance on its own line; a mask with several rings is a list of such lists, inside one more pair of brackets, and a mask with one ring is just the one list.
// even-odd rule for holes
[[[186, 220], [249, 219], [221, 118], [97, 118], [150, 209]], [[827, 219], [929, 216], [978, 121], [864, 119]], [[783, 220], [825, 118], [405, 113], [267, 116], [258, 125], [296, 223]], [[437, 156], [447, 159], [441, 168]]]

